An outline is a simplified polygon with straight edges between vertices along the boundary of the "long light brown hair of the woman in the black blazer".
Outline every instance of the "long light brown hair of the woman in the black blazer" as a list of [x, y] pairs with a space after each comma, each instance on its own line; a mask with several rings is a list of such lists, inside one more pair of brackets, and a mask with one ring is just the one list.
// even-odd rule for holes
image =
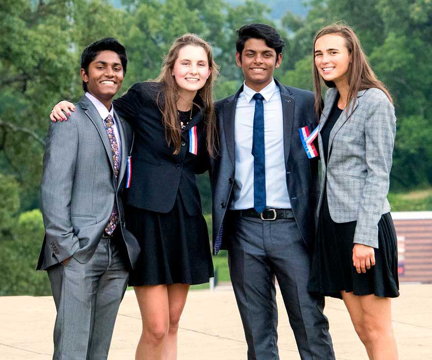
[[[214, 156], [215, 146], [217, 143], [216, 115], [213, 108], [213, 83], [219, 74], [218, 66], [213, 60], [213, 54], [210, 45], [196, 36], [195, 34], [184, 34], [176, 39], [168, 51], [162, 63], [162, 69], [156, 82], [163, 83], [165, 86], [158, 94], [158, 106], [162, 112], [162, 121], [165, 126], [165, 139], [168, 146], [174, 145], [174, 154], [179, 154], [182, 142], [182, 129], [179, 123], [179, 113], [177, 111], [177, 100], [179, 99], [179, 86], [172, 76], [174, 64], [179, 56], [179, 51], [183, 46], [192, 45], [202, 47], [208, 58], [208, 66], [211, 69], [210, 76], [203, 88], [198, 90], [198, 96], [204, 106], [204, 123], [206, 134], [207, 151], [210, 156]], [[162, 96], [161, 96], [162, 95]], [[201, 104], [193, 105], [201, 107]]]

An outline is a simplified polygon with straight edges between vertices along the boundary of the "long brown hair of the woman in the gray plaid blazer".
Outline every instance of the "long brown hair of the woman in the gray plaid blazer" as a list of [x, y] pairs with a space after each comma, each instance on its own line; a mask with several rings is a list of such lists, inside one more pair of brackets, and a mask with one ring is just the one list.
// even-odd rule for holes
[[[355, 99], [357, 97], [357, 93], [359, 92], [359, 90], [365, 90], [370, 88], [378, 88], [380, 90], [383, 90], [387, 95], [388, 100], [393, 103], [393, 100], [391, 99], [390, 93], [388, 92], [386, 86], [377, 79], [375, 73], [367, 62], [366, 55], [364, 54], [362, 45], [360, 44], [360, 40], [350, 26], [345, 25], [341, 22], [335, 22], [318, 30], [314, 39], [314, 48], [312, 49], [314, 59], [315, 43], [317, 42], [318, 38], [327, 34], [340, 35], [341, 37], [343, 37], [345, 39], [345, 46], [347, 47], [348, 52], [351, 55], [351, 62], [348, 65], [347, 71], [349, 91], [348, 97], [346, 99], [346, 111], [349, 111], [349, 104], [351, 103], [352, 99]], [[315, 61], [313, 65], [313, 71], [315, 84], [315, 113], [317, 114], [318, 118], [319, 113], [322, 110], [321, 80], [329, 88], [334, 88], [336, 85], [333, 81], [325, 81], [319, 76]], [[352, 104], [352, 106], [354, 106], [354, 104]]]

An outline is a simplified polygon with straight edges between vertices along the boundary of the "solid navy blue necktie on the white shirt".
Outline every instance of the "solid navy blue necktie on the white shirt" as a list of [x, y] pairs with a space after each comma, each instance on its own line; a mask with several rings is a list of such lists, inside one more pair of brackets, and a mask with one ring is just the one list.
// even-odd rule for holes
[[266, 155], [264, 151], [264, 105], [263, 95], [253, 95], [255, 113], [253, 115], [253, 208], [262, 212], [266, 208]]

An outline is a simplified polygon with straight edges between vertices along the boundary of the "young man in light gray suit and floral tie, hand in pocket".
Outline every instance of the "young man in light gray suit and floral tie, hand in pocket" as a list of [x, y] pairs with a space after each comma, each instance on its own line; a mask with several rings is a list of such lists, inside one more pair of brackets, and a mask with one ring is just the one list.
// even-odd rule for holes
[[111, 103], [126, 72], [126, 50], [113, 38], [86, 47], [86, 92], [70, 115], [51, 123], [41, 207], [45, 238], [38, 270], [47, 270], [57, 309], [54, 360], [105, 360], [114, 322], [139, 253], [124, 227], [125, 186], [133, 133]]

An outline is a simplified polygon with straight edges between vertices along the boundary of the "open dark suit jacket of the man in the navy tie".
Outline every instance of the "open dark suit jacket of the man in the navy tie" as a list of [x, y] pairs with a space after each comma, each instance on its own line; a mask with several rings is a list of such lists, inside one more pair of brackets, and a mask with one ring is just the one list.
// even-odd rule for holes
[[[281, 85], [283, 112], [283, 139], [286, 181], [291, 206], [297, 226], [304, 242], [312, 246], [315, 240], [315, 208], [319, 198], [318, 158], [309, 159], [304, 151], [298, 129], [308, 126], [313, 130], [317, 125], [314, 113], [314, 93], [307, 90]], [[227, 209], [232, 200], [235, 176], [234, 122], [236, 94], [216, 102], [218, 122], [219, 154], [212, 160], [210, 181], [213, 200], [213, 252], [229, 248], [230, 226]]]

